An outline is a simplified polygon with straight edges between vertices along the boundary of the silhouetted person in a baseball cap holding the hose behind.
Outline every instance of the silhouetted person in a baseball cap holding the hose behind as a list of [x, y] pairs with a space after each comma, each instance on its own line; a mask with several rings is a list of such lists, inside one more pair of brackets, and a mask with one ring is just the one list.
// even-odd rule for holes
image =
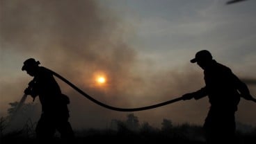
[[256, 99], [227, 66], [213, 60], [209, 51], [199, 51], [191, 62], [197, 62], [204, 70], [205, 87], [182, 97], [184, 100], [198, 100], [208, 96], [211, 107], [203, 125], [207, 143], [235, 142], [235, 111], [240, 97], [254, 102]]

